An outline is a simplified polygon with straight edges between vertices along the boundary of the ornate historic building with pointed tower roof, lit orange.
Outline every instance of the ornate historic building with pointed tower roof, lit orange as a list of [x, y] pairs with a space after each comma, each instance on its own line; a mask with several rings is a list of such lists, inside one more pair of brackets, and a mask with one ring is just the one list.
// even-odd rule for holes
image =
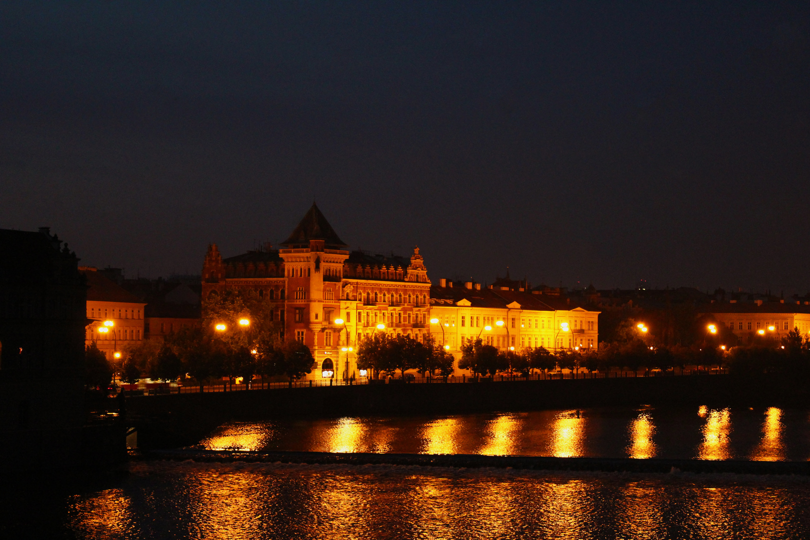
[[282, 323], [282, 337], [313, 352], [312, 378], [357, 376], [357, 341], [374, 331], [416, 339], [429, 333], [430, 280], [419, 249], [410, 258], [350, 252], [314, 204], [278, 250], [266, 246], [223, 258], [211, 244], [203, 305], [212, 293], [228, 290], [275, 301], [271, 313]]

